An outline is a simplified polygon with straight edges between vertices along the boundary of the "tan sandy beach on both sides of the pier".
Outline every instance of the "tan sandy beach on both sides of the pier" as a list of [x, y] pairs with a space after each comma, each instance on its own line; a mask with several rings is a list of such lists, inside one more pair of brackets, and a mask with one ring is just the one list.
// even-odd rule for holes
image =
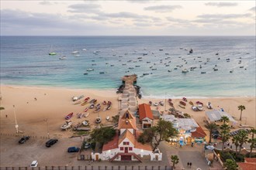
[[[99, 111], [99, 116], [102, 117], [103, 124], [109, 124], [106, 121], [106, 117], [112, 117], [118, 114], [118, 97], [114, 90], [74, 90], [64, 88], [46, 88], [46, 87], [18, 87], [18, 86], [1, 86], [2, 100], [1, 107], [1, 132], [2, 133], [16, 133], [14, 111], [16, 112], [17, 123], [19, 124], [19, 131], [23, 131], [24, 134], [47, 136], [47, 121], [50, 132], [50, 137], [58, 136], [59, 138], [70, 137], [74, 134], [73, 131], [61, 131], [61, 125], [64, 124], [64, 117], [73, 112], [74, 116], [71, 118], [74, 124], [83, 120], [88, 120], [91, 127], [95, 125], [95, 118], [98, 117], [94, 110], [89, 109], [90, 115], [88, 117], [77, 118], [78, 113], [83, 113], [85, 107], [88, 104], [81, 106], [81, 104], [74, 105], [71, 97], [84, 95], [85, 97], [95, 98], [102, 103], [103, 100], [110, 100], [112, 102], [112, 108], [106, 111]], [[36, 98], [36, 100], [35, 100]], [[138, 99], [139, 104], [147, 103], [151, 100], [159, 102], [165, 99]], [[178, 102], [182, 99], [173, 99], [175, 108], [190, 114], [195, 121], [203, 126], [204, 112], [208, 110], [204, 107], [202, 111], [193, 111], [190, 106], [187, 105], [185, 109], [178, 107]], [[227, 113], [235, 117], [238, 124], [247, 124], [251, 127], [256, 127], [255, 122], [255, 97], [236, 97], [236, 98], [201, 98], [201, 99], [188, 99], [195, 103], [200, 100], [206, 104], [210, 101], [213, 104], [214, 109], [223, 108]], [[244, 105], [246, 110], [243, 111], [242, 122], [238, 121], [240, 117], [240, 110], [237, 109], [238, 105]], [[13, 108], [15, 105], [15, 109]], [[155, 107], [152, 106], [155, 110]], [[167, 104], [166, 109], [170, 106]], [[165, 110], [165, 106], [161, 106], [160, 110]], [[7, 115], [7, 117], [6, 117]], [[47, 121], [46, 121], [47, 120]], [[205, 129], [205, 128], [203, 128]]]

